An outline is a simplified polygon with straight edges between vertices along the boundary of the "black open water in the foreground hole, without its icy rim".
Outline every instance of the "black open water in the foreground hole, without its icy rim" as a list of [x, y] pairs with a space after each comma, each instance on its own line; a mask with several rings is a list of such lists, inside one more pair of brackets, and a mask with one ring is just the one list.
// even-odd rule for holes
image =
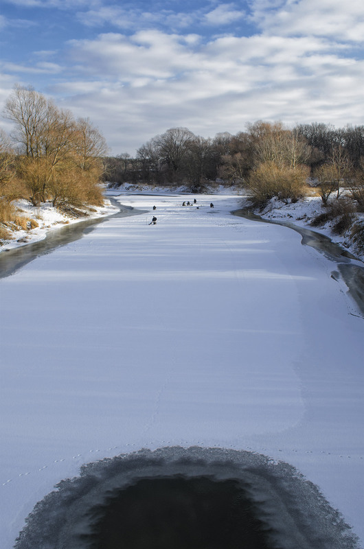
[[144, 478], [89, 513], [92, 549], [269, 549], [241, 482]]

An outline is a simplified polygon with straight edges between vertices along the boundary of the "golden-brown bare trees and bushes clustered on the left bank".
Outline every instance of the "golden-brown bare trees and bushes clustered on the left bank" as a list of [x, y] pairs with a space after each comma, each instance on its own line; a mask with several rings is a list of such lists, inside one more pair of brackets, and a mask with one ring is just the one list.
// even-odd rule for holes
[[[0, 128], [0, 221], [14, 218], [12, 201], [50, 201], [77, 215], [78, 208], [103, 202], [106, 141], [89, 119], [75, 119], [32, 87], [15, 86], [4, 115], [14, 126]], [[3, 229], [4, 230], [4, 229]]]

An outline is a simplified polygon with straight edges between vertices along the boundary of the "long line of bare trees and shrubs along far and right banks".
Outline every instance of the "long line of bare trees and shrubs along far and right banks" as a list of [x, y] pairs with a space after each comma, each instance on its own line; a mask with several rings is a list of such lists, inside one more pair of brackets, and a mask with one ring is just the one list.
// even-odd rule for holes
[[183, 183], [192, 192], [219, 179], [247, 187], [262, 202], [272, 196], [297, 200], [311, 178], [326, 203], [343, 185], [353, 192], [362, 187], [363, 159], [364, 126], [313, 123], [290, 129], [281, 122], [256, 121], [246, 131], [221, 132], [213, 139], [170, 128], [141, 145], [135, 158], [107, 158], [105, 177], [117, 183]]

